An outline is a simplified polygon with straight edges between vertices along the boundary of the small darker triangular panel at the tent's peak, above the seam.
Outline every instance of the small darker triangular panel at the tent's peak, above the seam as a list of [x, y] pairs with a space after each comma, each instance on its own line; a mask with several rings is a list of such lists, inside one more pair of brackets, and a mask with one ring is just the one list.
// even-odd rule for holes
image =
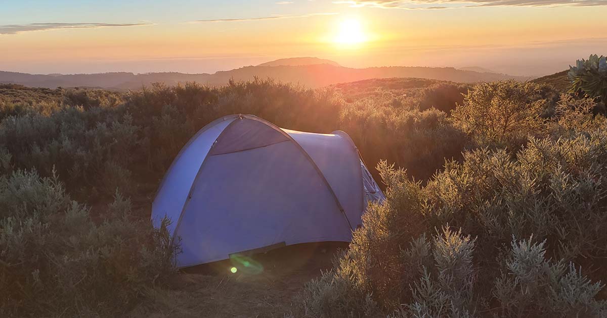
[[288, 138], [265, 122], [241, 117], [226, 128], [209, 156], [265, 147], [283, 141], [288, 141]]

